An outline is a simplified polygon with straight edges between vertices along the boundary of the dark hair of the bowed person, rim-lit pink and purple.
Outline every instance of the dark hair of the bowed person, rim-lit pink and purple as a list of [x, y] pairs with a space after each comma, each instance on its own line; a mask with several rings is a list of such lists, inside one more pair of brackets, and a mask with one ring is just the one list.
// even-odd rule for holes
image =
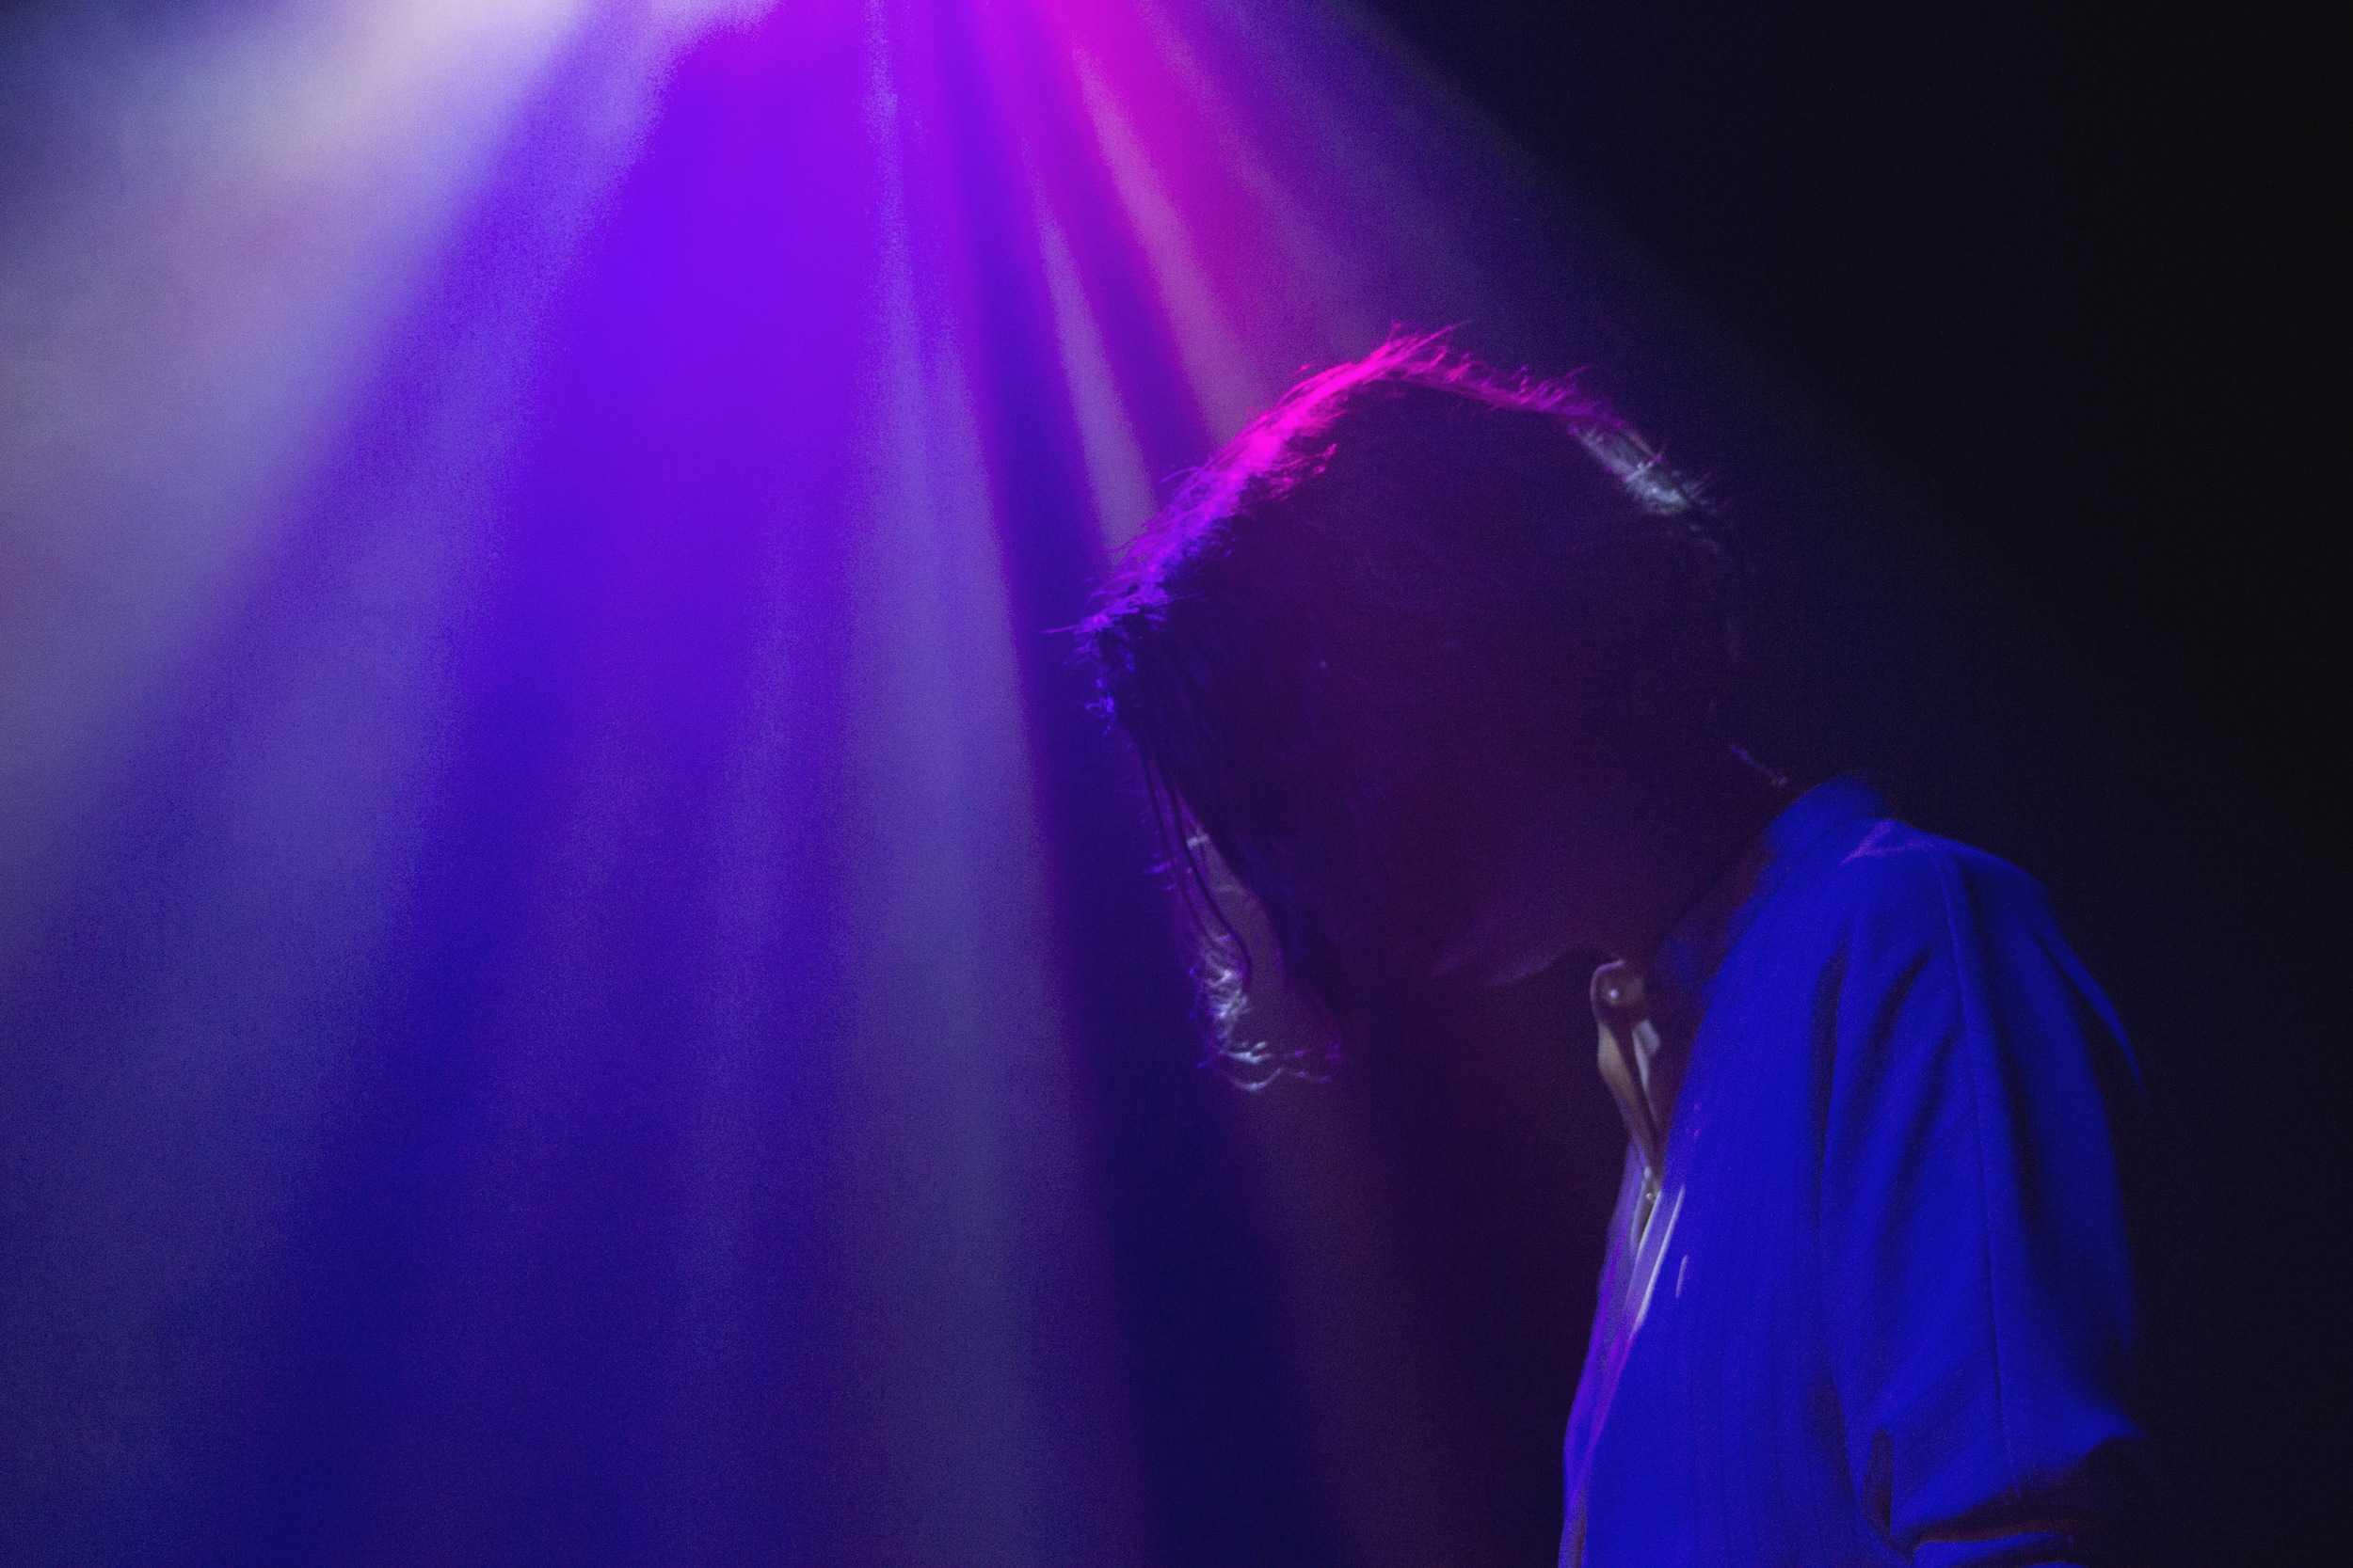
[[1621, 691], [1631, 639], [1697, 616], [1729, 646], [1720, 567], [1694, 487], [1600, 400], [1440, 334], [1308, 376], [1191, 473], [1080, 635], [1198, 926], [1217, 1058], [1264, 1079], [1287, 1053], [1242, 1030], [1252, 954], [1212, 863], [1337, 1048], [1447, 914], [1475, 823], [1433, 820], [1440, 776], [1534, 783], [1612, 703], [1682, 701], [1671, 670]]

